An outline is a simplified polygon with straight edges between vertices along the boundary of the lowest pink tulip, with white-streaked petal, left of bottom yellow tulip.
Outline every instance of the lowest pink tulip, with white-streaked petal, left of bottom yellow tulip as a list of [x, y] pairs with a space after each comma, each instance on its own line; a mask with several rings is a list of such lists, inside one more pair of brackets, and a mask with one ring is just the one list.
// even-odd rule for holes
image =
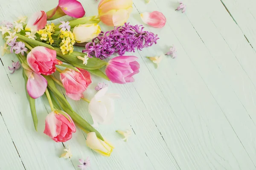
[[44, 133], [55, 142], [67, 142], [72, 138], [73, 132], [76, 132], [76, 126], [71, 117], [64, 111], [61, 111], [61, 113], [52, 111], [46, 116]]

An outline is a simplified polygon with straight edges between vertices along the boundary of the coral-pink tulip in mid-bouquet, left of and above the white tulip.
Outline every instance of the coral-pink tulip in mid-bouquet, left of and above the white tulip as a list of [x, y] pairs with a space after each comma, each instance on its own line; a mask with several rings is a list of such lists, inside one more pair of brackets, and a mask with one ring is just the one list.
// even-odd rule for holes
[[88, 71], [79, 69], [81, 72], [72, 69], [65, 69], [60, 74], [61, 82], [66, 90], [66, 94], [73, 100], [80, 100], [84, 97], [84, 91], [92, 82]]

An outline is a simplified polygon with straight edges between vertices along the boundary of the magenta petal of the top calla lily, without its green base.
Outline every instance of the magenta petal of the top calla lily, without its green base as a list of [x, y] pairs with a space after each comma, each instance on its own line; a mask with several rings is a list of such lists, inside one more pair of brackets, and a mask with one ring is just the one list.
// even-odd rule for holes
[[59, 0], [58, 6], [70, 17], [81, 18], [85, 14], [82, 4], [77, 0]]

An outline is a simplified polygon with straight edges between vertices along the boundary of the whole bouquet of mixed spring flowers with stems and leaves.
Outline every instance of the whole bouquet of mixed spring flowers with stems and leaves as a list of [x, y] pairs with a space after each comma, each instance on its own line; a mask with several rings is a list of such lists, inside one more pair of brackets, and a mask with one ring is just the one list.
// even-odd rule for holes
[[[142, 26], [125, 23], [132, 10], [131, 0], [120, 8], [112, 3], [101, 0], [99, 16], [84, 17], [81, 3], [59, 0], [57, 7], [48, 12], [36, 12], [28, 18], [28, 22], [26, 17], [19, 17], [14, 23], [3, 21], [0, 27], [6, 42], [2, 47], [2, 56], [10, 52], [15, 53], [18, 59], [9, 69], [14, 72], [22, 66], [35, 130], [38, 125], [35, 99], [45, 94], [52, 112], [45, 119], [44, 133], [55, 142], [66, 142], [76, 132], [77, 125], [88, 135], [87, 146], [103, 156], [110, 156], [113, 146], [94, 127], [98, 123], [111, 122], [113, 98], [117, 95], [108, 94], [108, 87], [99, 84], [96, 95], [86, 99], [83, 93], [92, 82], [91, 74], [113, 83], [134, 82], [133, 76], [139, 73], [140, 64], [136, 61], [137, 57], [124, 56], [125, 52], [142, 50], [158, 40], [157, 35], [143, 31]], [[61, 21], [56, 25], [47, 23], [47, 20], [64, 15], [77, 19]], [[100, 21], [115, 27], [104, 33], [98, 25]], [[74, 46], [84, 49], [74, 51]], [[114, 53], [120, 56], [109, 62], [103, 60]], [[59, 78], [53, 76], [56, 72]], [[83, 99], [89, 103], [93, 126], [73, 110], [56, 85], [64, 88], [70, 99]]]

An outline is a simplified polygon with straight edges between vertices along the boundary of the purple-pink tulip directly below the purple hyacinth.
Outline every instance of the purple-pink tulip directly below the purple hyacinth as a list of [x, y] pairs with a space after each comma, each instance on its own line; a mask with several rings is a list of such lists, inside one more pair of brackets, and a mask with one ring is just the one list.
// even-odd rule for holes
[[133, 75], [139, 73], [140, 64], [135, 56], [119, 56], [111, 59], [106, 68], [106, 75], [113, 83], [134, 82]]

